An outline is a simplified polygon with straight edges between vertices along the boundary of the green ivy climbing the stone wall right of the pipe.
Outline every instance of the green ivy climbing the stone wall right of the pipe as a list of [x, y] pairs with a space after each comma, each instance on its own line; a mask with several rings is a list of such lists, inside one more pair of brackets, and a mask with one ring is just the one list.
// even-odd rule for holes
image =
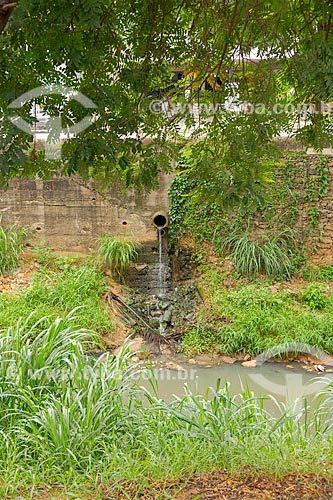
[[[212, 242], [216, 251], [223, 248], [224, 239], [232, 231], [249, 235], [256, 241], [266, 237], [275, 241], [281, 231], [292, 229], [297, 233], [298, 247], [302, 249], [311, 238], [311, 251], [319, 240], [320, 204], [330, 187], [330, 170], [325, 156], [310, 157], [305, 153], [289, 153], [268, 167], [272, 179], [261, 206], [244, 210], [244, 206], [221, 207], [218, 203], [199, 202], [196, 186], [191, 180], [191, 162], [183, 158], [179, 172], [170, 188], [170, 236], [172, 244], [190, 232], [195, 243]], [[242, 233], [243, 231], [243, 233]], [[294, 248], [294, 257], [299, 258]], [[299, 253], [299, 251], [298, 251]], [[298, 255], [298, 256], [297, 256]]]

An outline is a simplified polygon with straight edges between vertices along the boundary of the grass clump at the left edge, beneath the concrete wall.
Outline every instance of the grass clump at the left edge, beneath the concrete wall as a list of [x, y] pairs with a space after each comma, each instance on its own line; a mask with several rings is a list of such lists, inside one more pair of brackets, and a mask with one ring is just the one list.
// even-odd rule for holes
[[17, 269], [27, 230], [17, 226], [0, 227], [0, 274]]

